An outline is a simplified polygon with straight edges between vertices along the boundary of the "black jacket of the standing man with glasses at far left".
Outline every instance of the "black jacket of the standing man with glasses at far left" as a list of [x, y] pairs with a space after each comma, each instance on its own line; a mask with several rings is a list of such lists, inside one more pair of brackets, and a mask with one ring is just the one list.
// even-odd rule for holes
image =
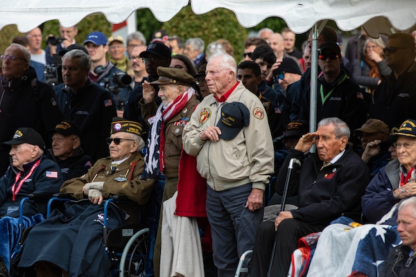
[[47, 131], [62, 121], [53, 89], [35, 79], [33, 67], [21, 78], [0, 78], [0, 176], [8, 167], [10, 149], [1, 143], [12, 139], [17, 128], [32, 127], [49, 145]]

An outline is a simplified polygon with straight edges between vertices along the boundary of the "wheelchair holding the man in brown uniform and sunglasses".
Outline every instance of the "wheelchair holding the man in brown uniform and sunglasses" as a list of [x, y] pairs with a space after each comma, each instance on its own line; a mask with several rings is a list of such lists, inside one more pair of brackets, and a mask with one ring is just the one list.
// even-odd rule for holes
[[[110, 204], [126, 204], [132, 202], [125, 197], [114, 196], [104, 204], [103, 216], [103, 246], [110, 271], [107, 276], [153, 276], [153, 248], [159, 222], [160, 204], [164, 189], [164, 180], [158, 180], [147, 204], [139, 206], [137, 223], [126, 224], [107, 230], [107, 208]], [[67, 195], [56, 194], [49, 199], [46, 217], [51, 215], [52, 207], [57, 202], [73, 200]], [[23, 242], [26, 235], [22, 235]], [[24, 237], [24, 238], [23, 238]], [[30, 269], [17, 272], [17, 276], [33, 276], [35, 271]]]

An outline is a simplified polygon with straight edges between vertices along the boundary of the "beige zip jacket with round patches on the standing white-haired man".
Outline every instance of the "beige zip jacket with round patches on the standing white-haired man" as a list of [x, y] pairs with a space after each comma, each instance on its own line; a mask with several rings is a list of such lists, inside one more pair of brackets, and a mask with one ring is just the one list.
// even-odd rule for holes
[[[216, 125], [221, 107], [227, 102], [242, 102], [250, 111], [250, 124], [231, 141], [202, 141], [199, 134]], [[273, 173], [273, 143], [263, 104], [239, 82], [231, 95], [218, 107], [214, 95], [202, 100], [184, 128], [185, 152], [197, 158], [200, 175], [214, 190], [227, 190], [252, 183], [264, 190]]]

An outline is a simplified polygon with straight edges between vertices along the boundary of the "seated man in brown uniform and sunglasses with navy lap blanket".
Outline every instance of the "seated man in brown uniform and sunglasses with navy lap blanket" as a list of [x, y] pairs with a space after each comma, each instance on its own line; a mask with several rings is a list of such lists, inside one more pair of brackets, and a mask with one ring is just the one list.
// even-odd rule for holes
[[99, 159], [82, 177], [64, 182], [60, 193], [78, 201], [66, 202], [64, 213], [54, 210], [32, 229], [19, 268], [34, 266], [36, 276], [106, 276], [110, 265], [103, 251], [103, 222], [107, 221], [108, 230], [114, 229], [137, 207], [121, 209], [112, 203], [105, 219], [104, 201], [121, 195], [146, 204], [155, 185], [154, 180], [141, 179], [144, 141], [139, 123], [113, 118], [107, 143], [110, 157]]

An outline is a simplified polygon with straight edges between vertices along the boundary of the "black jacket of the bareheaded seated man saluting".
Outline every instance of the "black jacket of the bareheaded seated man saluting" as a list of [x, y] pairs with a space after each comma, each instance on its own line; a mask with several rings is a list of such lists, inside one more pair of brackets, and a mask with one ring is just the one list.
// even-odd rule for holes
[[289, 150], [286, 161], [277, 175], [276, 192], [283, 195], [288, 164], [298, 159], [289, 181], [288, 196], [298, 195], [299, 207], [291, 211], [293, 218], [314, 224], [329, 224], [343, 213], [361, 213], [361, 196], [369, 181], [364, 161], [347, 148], [336, 163], [320, 170], [322, 161], [318, 154], [306, 156], [303, 152]]

